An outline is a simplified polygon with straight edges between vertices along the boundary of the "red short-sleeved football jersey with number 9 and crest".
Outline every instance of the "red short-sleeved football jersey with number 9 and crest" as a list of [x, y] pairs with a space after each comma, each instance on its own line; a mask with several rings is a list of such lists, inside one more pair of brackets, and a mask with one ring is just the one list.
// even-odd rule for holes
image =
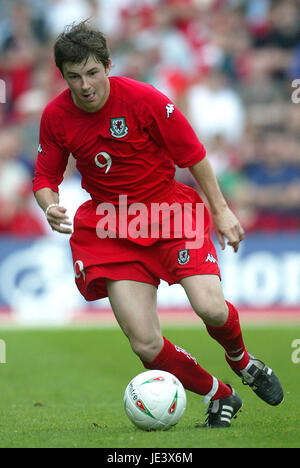
[[77, 107], [66, 89], [44, 110], [33, 190], [58, 192], [70, 153], [82, 187], [96, 202], [167, 201], [175, 193], [175, 165], [201, 161], [205, 149], [183, 114], [153, 86], [110, 78], [97, 112]]

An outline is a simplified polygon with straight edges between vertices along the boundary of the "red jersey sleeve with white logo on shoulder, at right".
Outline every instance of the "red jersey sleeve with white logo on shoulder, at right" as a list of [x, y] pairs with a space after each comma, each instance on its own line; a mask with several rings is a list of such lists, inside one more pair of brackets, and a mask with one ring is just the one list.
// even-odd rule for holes
[[190, 167], [201, 161], [206, 150], [186, 117], [156, 88], [143, 103], [144, 124], [153, 140], [163, 145], [175, 164]]

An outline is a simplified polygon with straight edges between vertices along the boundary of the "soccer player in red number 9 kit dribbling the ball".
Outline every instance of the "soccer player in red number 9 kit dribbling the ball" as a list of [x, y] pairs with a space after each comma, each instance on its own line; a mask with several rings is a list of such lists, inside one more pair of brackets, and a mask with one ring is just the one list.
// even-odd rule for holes
[[[87, 301], [108, 296], [147, 369], [173, 373], [210, 402], [205, 427], [229, 427], [242, 406], [236, 391], [161, 334], [159, 282], [180, 283], [233, 371], [260, 398], [278, 405], [283, 399], [278, 378], [248, 353], [238, 312], [224, 299], [208, 210], [194, 189], [174, 179], [175, 165], [189, 168], [209, 201], [221, 247], [227, 240], [237, 252], [243, 229], [190, 124], [153, 86], [109, 77], [106, 39], [87, 22], [66, 28], [54, 55], [68, 88], [42, 115], [33, 190], [51, 228], [70, 234], [58, 187], [73, 155], [82, 187], [91, 195], [75, 215], [70, 239], [78, 289]], [[162, 206], [154, 222], [152, 208]], [[186, 219], [192, 222], [189, 233], [179, 229], [178, 221]]]

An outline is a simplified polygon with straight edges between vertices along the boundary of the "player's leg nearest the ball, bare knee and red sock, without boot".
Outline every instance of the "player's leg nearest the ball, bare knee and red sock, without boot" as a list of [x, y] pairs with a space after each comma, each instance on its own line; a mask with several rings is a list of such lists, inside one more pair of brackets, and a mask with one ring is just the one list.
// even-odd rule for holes
[[120, 327], [147, 369], [171, 372], [186, 389], [204, 395], [207, 401], [231, 395], [227, 385], [206, 372], [188, 352], [162, 336], [155, 286], [107, 280], [107, 291]]

